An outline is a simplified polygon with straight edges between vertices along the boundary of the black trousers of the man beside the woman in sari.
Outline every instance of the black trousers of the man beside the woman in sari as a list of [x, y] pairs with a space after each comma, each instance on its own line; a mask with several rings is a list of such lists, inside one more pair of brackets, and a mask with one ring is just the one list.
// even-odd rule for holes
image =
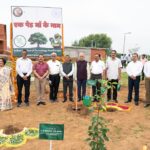
[[27, 80], [24, 80], [22, 77], [17, 75], [17, 87], [18, 87], [18, 103], [22, 103], [22, 88], [23, 85], [25, 87], [25, 103], [29, 102], [29, 95], [30, 95], [30, 76]]

